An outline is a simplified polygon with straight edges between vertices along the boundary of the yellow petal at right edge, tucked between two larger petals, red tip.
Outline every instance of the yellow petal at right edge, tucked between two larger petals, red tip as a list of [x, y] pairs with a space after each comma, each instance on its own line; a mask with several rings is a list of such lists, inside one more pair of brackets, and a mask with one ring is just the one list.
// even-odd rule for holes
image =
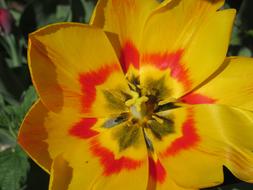
[[[217, 104], [253, 110], [253, 59], [230, 57], [224, 62], [223, 70], [217, 76], [194, 91], [213, 99]], [[198, 98], [192, 94], [184, 97], [186, 103], [198, 104]]]

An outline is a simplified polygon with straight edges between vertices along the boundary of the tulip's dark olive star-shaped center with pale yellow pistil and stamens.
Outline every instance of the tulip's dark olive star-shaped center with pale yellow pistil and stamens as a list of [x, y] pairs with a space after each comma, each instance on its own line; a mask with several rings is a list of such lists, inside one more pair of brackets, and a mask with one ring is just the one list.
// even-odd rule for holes
[[[174, 99], [171, 99], [172, 101], [169, 103], [164, 102], [164, 98], [168, 100], [170, 92], [165, 85], [164, 77], [157, 81], [150, 80], [148, 85], [144, 87], [140, 85], [138, 77], [132, 77], [128, 79], [128, 82], [129, 93], [121, 91], [119, 93], [104, 92], [111, 108], [124, 107], [124, 110], [128, 111], [108, 119], [103, 127], [123, 126], [115, 135], [119, 141], [120, 151], [134, 145], [141, 133], [146, 139], [147, 147], [152, 150], [152, 143], [145, 131], [151, 131], [154, 137], [159, 140], [172, 133], [174, 129], [172, 115], [164, 114], [164, 111], [179, 106], [174, 103]], [[118, 98], [117, 94], [122, 94], [121, 97], [124, 98]]]

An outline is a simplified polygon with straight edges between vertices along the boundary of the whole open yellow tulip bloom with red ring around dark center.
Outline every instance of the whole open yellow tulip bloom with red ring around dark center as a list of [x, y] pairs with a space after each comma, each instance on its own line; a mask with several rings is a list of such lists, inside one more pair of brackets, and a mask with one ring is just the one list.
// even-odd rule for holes
[[229, 57], [223, 0], [101, 0], [90, 25], [29, 36], [40, 99], [19, 143], [51, 190], [253, 182], [253, 60]]

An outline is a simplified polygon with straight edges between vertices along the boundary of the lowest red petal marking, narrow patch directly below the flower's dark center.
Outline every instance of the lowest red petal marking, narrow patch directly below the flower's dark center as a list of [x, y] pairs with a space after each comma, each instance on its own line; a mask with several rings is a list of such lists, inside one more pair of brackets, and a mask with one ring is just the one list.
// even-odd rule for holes
[[148, 163], [150, 176], [153, 178], [154, 181], [158, 183], [163, 183], [166, 178], [166, 170], [162, 166], [160, 160], [157, 160], [155, 162], [152, 157], [148, 157]]

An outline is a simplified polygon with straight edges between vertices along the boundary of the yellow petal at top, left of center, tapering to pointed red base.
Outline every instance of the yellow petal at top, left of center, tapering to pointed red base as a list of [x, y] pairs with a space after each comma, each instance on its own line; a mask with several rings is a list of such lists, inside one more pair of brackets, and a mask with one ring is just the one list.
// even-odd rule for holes
[[[151, 13], [159, 7], [156, 0], [100, 0], [93, 13], [91, 24], [117, 34], [114, 45], [125, 73], [138, 73], [139, 43], [144, 25]], [[111, 39], [112, 35], [108, 35]]]

